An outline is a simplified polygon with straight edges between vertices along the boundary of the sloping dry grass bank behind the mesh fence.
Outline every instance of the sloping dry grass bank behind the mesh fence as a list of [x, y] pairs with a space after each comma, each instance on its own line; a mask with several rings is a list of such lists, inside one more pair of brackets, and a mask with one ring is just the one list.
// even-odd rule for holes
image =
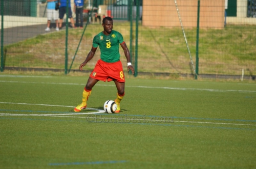
[[[135, 24], [134, 24], [135, 25]], [[115, 22], [114, 30], [120, 30], [130, 47], [130, 23]], [[89, 24], [84, 32], [79, 50], [76, 53], [83, 30], [71, 29], [68, 37], [69, 66], [76, 53], [72, 69], [77, 69], [91, 49], [93, 37], [102, 31], [102, 26]], [[196, 29], [186, 28], [186, 38], [196, 63]], [[135, 35], [134, 35], [135, 36]], [[147, 27], [139, 25], [138, 71], [155, 73], [189, 74], [190, 59], [180, 27]], [[6, 67], [53, 68], [65, 67], [66, 31], [38, 35], [4, 47]], [[200, 29], [199, 74], [245, 75], [256, 74], [256, 29], [254, 25], [227, 25], [225, 29]], [[123, 50], [120, 49], [122, 63], [126, 63]], [[135, 47], [132, 47], [135, 61]], [[87, 70], [93, 70], [100, 57], [87, 64]]]

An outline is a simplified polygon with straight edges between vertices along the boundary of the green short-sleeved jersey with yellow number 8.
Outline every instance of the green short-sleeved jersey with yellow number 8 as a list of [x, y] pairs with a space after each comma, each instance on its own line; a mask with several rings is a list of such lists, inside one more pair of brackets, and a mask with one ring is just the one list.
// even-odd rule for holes
[[100, 59], [104, 62], [114, 63], [119, 61], [119, 43], [123, 42], [123, 36], [113, 31], [109, 35], [99, 33], [93, 38], [93, 47], [100, 48]]

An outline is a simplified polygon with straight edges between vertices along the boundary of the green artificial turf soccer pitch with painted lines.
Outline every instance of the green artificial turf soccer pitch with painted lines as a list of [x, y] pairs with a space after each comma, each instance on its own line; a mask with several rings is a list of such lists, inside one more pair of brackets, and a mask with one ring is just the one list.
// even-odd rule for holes
[[255, 168], [256, 83], [0, 75], [0, 168]]

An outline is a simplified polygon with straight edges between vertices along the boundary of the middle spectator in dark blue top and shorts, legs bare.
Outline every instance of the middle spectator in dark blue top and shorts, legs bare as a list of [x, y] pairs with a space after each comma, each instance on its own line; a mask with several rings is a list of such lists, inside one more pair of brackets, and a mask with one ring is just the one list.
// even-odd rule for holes
[[[59, 0], [59, 28], [60, 29], [62, 27], [63, 17], [66, 14], [66, 8], [67, 8], [67, 0]], [[67, 16], [67, 17], [70, 18], [71, 26], [75, 27], [74, 19], [72, 17], [70, 0], [68, 2], [68, 8], [69, 8], [69, 11], [68, 11], [69, 16]]]

